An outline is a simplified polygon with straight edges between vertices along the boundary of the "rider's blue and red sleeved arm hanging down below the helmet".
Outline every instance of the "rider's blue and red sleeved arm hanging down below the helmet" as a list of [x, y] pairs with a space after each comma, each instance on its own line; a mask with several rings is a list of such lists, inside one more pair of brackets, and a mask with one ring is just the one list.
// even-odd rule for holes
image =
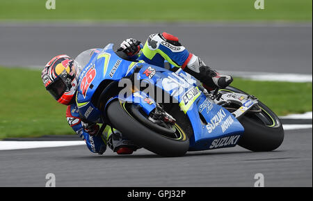
[[66, 119], [70, 127], [86, 142], [90, 152], [102, 154], [106, 150], [106, 141], [102, 139], [102, 135], [91, 136], [83, 129], [76, 104], [67, 106]]

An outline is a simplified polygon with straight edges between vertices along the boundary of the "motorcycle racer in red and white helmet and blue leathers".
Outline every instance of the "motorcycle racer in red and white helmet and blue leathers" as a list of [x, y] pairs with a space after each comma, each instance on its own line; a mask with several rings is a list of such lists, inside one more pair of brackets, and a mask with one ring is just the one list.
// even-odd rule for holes
[[[90, 49], [87, 54], [96, 54], [97, 49]], [[124, 40], [116, 54], [129, 61], [144, 61], [151, 65], [164, 67], [167, 61], [172, 67], [180, 67], [202, 82], [204, 88], [225, 88], [232, 82], [232, 77], [219, 74], [180, 44], [179, 39], [169, 33], [155, 33], [149, 36], [145, 46], [141, 42], [129, 38]], [[118, 130], [106, 126], [104, 135], [98, 134], [99, 125], [83, 120], [79, 115], [79, 107], [75, 102], [79, 87], [79, 72], [75, 61], [67, 55], [55, 56], [42, 70], [41, 78], [45, 88], [61, 104], [67, 105], [66, 118], [70, 127], [85, 140], [91, 152], [103, 154], [108, 145], [118, 154], [131, 154], [138, 146], [124, 138]]]

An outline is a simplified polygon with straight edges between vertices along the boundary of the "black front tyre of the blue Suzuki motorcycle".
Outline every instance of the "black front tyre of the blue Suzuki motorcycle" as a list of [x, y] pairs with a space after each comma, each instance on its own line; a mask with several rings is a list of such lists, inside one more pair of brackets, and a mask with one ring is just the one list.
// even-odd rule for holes
[[123, 136], [150, 152], [160, 156], [183, 156], [188, 151], [188, 136], [177, 124], [175, 124], [175, 128], [179, 131], [179, 138], [163, 136], [136, 120], [127, 111], [125, 104], [121, 104], [118, 100], [111, 102], [106, 114], [112, 126], [118, 129]]

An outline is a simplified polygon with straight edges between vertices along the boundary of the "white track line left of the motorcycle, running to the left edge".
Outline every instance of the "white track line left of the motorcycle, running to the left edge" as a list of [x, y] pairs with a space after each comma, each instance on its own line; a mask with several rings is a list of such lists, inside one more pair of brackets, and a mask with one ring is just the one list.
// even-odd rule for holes
[[43, 147], [67, 147], [85, 145], [83, 140], [73, 141], [0, 141], [0, 150], [22, 150]]

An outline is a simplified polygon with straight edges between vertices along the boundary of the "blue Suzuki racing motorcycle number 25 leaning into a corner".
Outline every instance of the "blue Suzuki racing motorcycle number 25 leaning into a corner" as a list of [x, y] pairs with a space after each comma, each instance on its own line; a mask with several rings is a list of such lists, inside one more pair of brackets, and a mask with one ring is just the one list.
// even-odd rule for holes
[[265, 152], [282, 144], [278, 116], [232, 86], [207, 91], [180, 69], [122, 59], [113, 44], [81, 53], [75, 62], [79, 113], [86, 122], [102, 123], [99, 134], [109, 124], [161, 156], [236, 145]]

